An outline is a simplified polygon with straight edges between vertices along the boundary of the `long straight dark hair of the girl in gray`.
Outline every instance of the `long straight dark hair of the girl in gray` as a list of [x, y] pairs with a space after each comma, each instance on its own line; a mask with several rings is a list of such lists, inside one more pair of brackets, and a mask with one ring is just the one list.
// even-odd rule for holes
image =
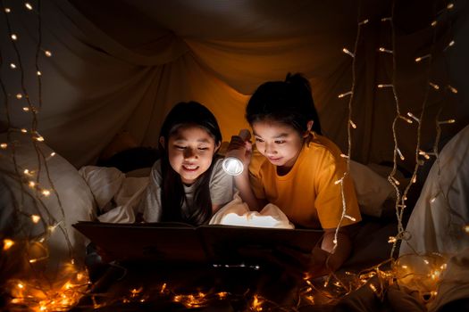
[[[177, 103], [164, 119], [160, 131], [160, 137], [164, 138], [164, 146], [159, 144], [162, 152], [161, 168], [163, 185], [161, 189], [162, 198], [162, 221], [182, 221], [195, 226], [208, 222], [212, 217], [212, 200], [210, 198], [210, 176], [214, 168], [214, 160], [210, 168], [197, 178], [196, 191], [192, 203], [187, 202], [184, 186], [180, 175], [171, 167], [168, 158], [168, 142], [180, 127], [197, 126], [214, 138], [215, 146], [222, 142], [222, 132], [214, 117], [204, 105], [197, 102]], [[182, 213], [182, 205], [186, 201], [188, 215]]]

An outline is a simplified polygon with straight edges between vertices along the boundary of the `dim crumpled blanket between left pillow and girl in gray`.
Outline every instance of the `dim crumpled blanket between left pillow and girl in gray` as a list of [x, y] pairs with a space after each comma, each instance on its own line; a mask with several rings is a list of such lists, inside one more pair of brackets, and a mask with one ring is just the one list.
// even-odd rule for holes
[[100, 222], [133, 223], [148, 177], [126, 177], [117, 168], [85, 166], [79, 170], [97, 205]]

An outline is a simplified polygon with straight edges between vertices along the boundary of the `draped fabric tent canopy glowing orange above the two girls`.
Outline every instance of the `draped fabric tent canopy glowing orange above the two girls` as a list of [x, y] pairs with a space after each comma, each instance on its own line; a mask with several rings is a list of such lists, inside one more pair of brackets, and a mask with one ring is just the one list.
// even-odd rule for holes
[[[456, 119], [443, 127], [443, 141], [469, 122], [465, 1], [448, 9], [436, 0], [42, 0], [40, 10], [30, 2], [32, 12], [19, 1], [2, 3], [11, 8], [0, 17], [0, 96], [7, 107], [2, 131], [34, 124], [22, 110], [26, 96], [15, 96], [28, 95], [40, 107], [38, 132], [77, 168], [94, 163], [121, 131], [155, 146], [165, 114], [180, 101], [214, 111], [229, 141], [247, 127], [249, 94], [288, 72], [310, 79], [324, 134], [347, 152], [350, 130], [352, 159], [363, 163], [393, 160], [398, 110], [423, 114], [421, 127], [396, 122], [396, 142], [406, 157], [399, 161], [408, 169], [417, 143], [431, 150], [437, 114]], [[39, 45], [52, 53], [38, 56], [40, 93], [38, 17]], [[355, 58], [344, 47], [356, 47]], [[415, 62], [427, 54], [431, 58]], [[12, 62], [21, 68], [12, 70]], [[397, 96], [379, 84], [394, 84]], [[349, 96], [338, 95], [352, 88], [349, 105]], [[349, 117], [356, 129], [349, 129]]]

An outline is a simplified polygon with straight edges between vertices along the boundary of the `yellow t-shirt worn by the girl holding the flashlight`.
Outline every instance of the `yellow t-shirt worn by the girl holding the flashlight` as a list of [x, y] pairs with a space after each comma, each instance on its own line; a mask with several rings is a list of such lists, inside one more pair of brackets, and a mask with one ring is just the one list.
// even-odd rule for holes
[[[340, 184], [347, 161], [339, 147], [322, 135], [311, 133], [288, 174], [279, 176], [277, 167], [254, 149], [249, 173], [255, 196], [278, 206], [297, 226], [336, 228], [343, 211]], [[346, 215], [340, 226], [361, 220], [352, 179], [344, 179]]]

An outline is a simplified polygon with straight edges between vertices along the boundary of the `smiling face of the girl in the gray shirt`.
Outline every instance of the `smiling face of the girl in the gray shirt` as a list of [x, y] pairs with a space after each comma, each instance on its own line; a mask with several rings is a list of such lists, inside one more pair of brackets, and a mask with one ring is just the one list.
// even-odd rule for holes
[[219, 146], [204, 128], [180, 127], [169, 137], [168, 158], [182, 183], [191, 185], [210, 167]]

